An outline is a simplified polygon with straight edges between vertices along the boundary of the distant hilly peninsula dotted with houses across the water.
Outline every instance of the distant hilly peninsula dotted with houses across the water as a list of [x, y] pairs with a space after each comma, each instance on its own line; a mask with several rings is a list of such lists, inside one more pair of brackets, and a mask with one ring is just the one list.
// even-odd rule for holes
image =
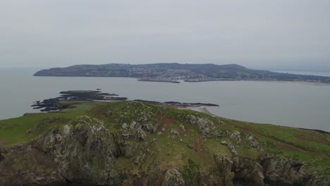
[[274, 73], [269, 70], [253, 70], [237, 64], [215, 65], [152, 63], [76, 65], [67, 68], [40, 70], [35, 76], [81, 76], [81, 77], [138, 77], [143, 79], [172, 79], [199, 82], [208, 80], [287, 80], [330, 82], [330, 77]]

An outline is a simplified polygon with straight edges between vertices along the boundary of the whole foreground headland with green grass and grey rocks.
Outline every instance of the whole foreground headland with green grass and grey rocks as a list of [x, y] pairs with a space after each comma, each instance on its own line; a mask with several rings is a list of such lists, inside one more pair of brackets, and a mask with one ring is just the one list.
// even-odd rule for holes
[[0, 120], [0, 185], [329, 185], [330, 135], [137, 101]]

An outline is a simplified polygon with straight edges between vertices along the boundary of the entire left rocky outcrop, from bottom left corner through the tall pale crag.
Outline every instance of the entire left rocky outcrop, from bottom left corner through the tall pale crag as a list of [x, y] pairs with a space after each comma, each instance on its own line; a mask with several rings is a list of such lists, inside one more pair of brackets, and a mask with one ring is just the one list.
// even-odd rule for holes
[[137, 146], [123, 143], [123, 137], [111, 134], [102, 120], [80, 116], [29, 144], [5, 149], [0, 185], [118, 185], [118, 156], [137, 163], [145, 159], [144, 152], [137, 154]]

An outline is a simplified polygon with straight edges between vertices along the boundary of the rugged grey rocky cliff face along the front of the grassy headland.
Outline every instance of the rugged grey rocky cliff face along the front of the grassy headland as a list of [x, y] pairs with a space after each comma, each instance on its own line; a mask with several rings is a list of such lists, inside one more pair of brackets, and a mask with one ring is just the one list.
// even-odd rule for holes
[[[103, 120], [80, 116], [31, 142], [2, 149], [0, 185], [329, 185], [329, 177], [305, 172], [302, 162], [262, 152], [251, 135], [245, 137], [251, 143], [249, 148], [262, 153], [257, 159], [244, 159], [236, 151], [243, 138], [240, 132], [220, 132], [212, 120], [198, 116], [180, 119], [196, 126], [204, 141], [226, 136], [237, 143], [219, 141], [231, 153], [214, 154], [214, 159], [205, 160], [213, 162], [208, 168], [200, 168], [191, 159], [177, 166], [170, 161], [156, 161], [162, 151], [154, 150], [159, 145], [155, 144], [157, 136], [161, 136], [155, 133], [166, 133], [160, 122], [150, 123], [142, 118], [111, 131]], [[182, 130], [173, 129], [168, 137], [182, 140], [181, 135], [188, 135], [183, 132], [190, 125], [181, 124]], [[151, 135], [154, 138], [150, 140]], [[207, 151], [198, 145], [200, 148], [193, 153]], [[166, 153], [170, 156], [171, 151]], [[122, 168], [127, 162], [136, 168]]]

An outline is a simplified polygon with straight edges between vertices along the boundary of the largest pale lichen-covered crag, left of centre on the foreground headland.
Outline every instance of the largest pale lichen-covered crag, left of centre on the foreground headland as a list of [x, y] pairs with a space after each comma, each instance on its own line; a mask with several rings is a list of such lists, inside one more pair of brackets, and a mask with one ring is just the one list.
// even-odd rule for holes
[[36, 146], [54, 156], [59, 173], [77, 183], [107, 185], [118, 149], [102, 120], [80, 116], [75, 125], [50, 130]]

